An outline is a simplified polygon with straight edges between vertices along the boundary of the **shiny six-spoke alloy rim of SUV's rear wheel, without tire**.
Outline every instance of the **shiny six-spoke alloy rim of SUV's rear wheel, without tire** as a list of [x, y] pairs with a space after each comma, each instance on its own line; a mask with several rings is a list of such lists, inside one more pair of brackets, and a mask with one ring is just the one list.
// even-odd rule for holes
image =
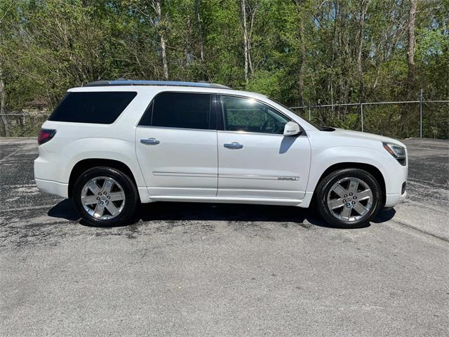
[[113, 178], [96, 177], [89, 180], [81, 191], [84, 210], [98, 220], [118, 216], [125, 206], [125, 192]]

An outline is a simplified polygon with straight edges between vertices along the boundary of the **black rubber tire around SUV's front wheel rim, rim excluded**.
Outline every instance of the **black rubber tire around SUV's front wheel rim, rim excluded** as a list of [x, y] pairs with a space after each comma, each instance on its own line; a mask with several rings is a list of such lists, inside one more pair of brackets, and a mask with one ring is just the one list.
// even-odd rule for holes
[[[363, 183], [368, 185], [373, 194], [371, 208], [368, 213], [358, 220], [342, 220], [334, 216], [332, 211], [329, 209], [327, 202], [328, 193], [335, 183], [344, 178], [357, 178], [362, 180]], [[316, 187], [315, 201], [316, 208], [318, 208], [320, 215], [330, 225], [340, 228], [359, 228], [368, 224], [370, 220], [372, 220], [380, 211], [382, 207], [382, 190], [377, 180], [367, 171], [362, 169], [340, 169], [328, 174], [328, 176], [321, 180], [319, 185]]]

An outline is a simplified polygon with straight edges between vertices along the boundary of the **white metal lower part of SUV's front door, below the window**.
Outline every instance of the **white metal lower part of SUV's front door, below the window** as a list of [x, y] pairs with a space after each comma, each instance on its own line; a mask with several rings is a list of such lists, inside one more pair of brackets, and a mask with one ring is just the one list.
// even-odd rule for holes
[[[225, 145], [239, 143], [240, 149]], [[307, 136], [218, 131], [217, 197], [302, 199], [307, 187]]]

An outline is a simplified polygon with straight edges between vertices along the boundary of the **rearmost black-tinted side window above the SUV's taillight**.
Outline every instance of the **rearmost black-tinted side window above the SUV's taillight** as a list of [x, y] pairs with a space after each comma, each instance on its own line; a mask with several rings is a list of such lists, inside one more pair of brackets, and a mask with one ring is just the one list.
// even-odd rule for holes
[[133, 91], [67, 93], [49, 120], [112, 124], [136, 95]]

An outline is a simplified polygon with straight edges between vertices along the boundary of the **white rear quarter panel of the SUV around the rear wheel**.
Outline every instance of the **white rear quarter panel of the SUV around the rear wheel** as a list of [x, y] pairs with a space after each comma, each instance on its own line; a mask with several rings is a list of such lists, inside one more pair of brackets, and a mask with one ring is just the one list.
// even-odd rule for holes
[[[100, 88], [83, 88], [99, 91]], [[57, 130], [54, 138], [39, 146], [34, 164], [36, 184], [43, 190], [56, 189], [61, 197], [68, 195], [70, 173], [83, 159], [113, 159], [128, 166], [137, 183], [142, 202], [149, 201], [145, 180], [135, 156], [135, 121], [148, 104], [146, 91], [139, 88], [109, 88], [110, 91], [136, 91], [138, 95], [112, 124], [81, 124], [46, 121], [43, 128]], [[142, 100], [142, 98], [144, 98]], [[55, 188], [51, 187], [52, 182]], [[145, 192], [141, 192], [145, 187]]]

